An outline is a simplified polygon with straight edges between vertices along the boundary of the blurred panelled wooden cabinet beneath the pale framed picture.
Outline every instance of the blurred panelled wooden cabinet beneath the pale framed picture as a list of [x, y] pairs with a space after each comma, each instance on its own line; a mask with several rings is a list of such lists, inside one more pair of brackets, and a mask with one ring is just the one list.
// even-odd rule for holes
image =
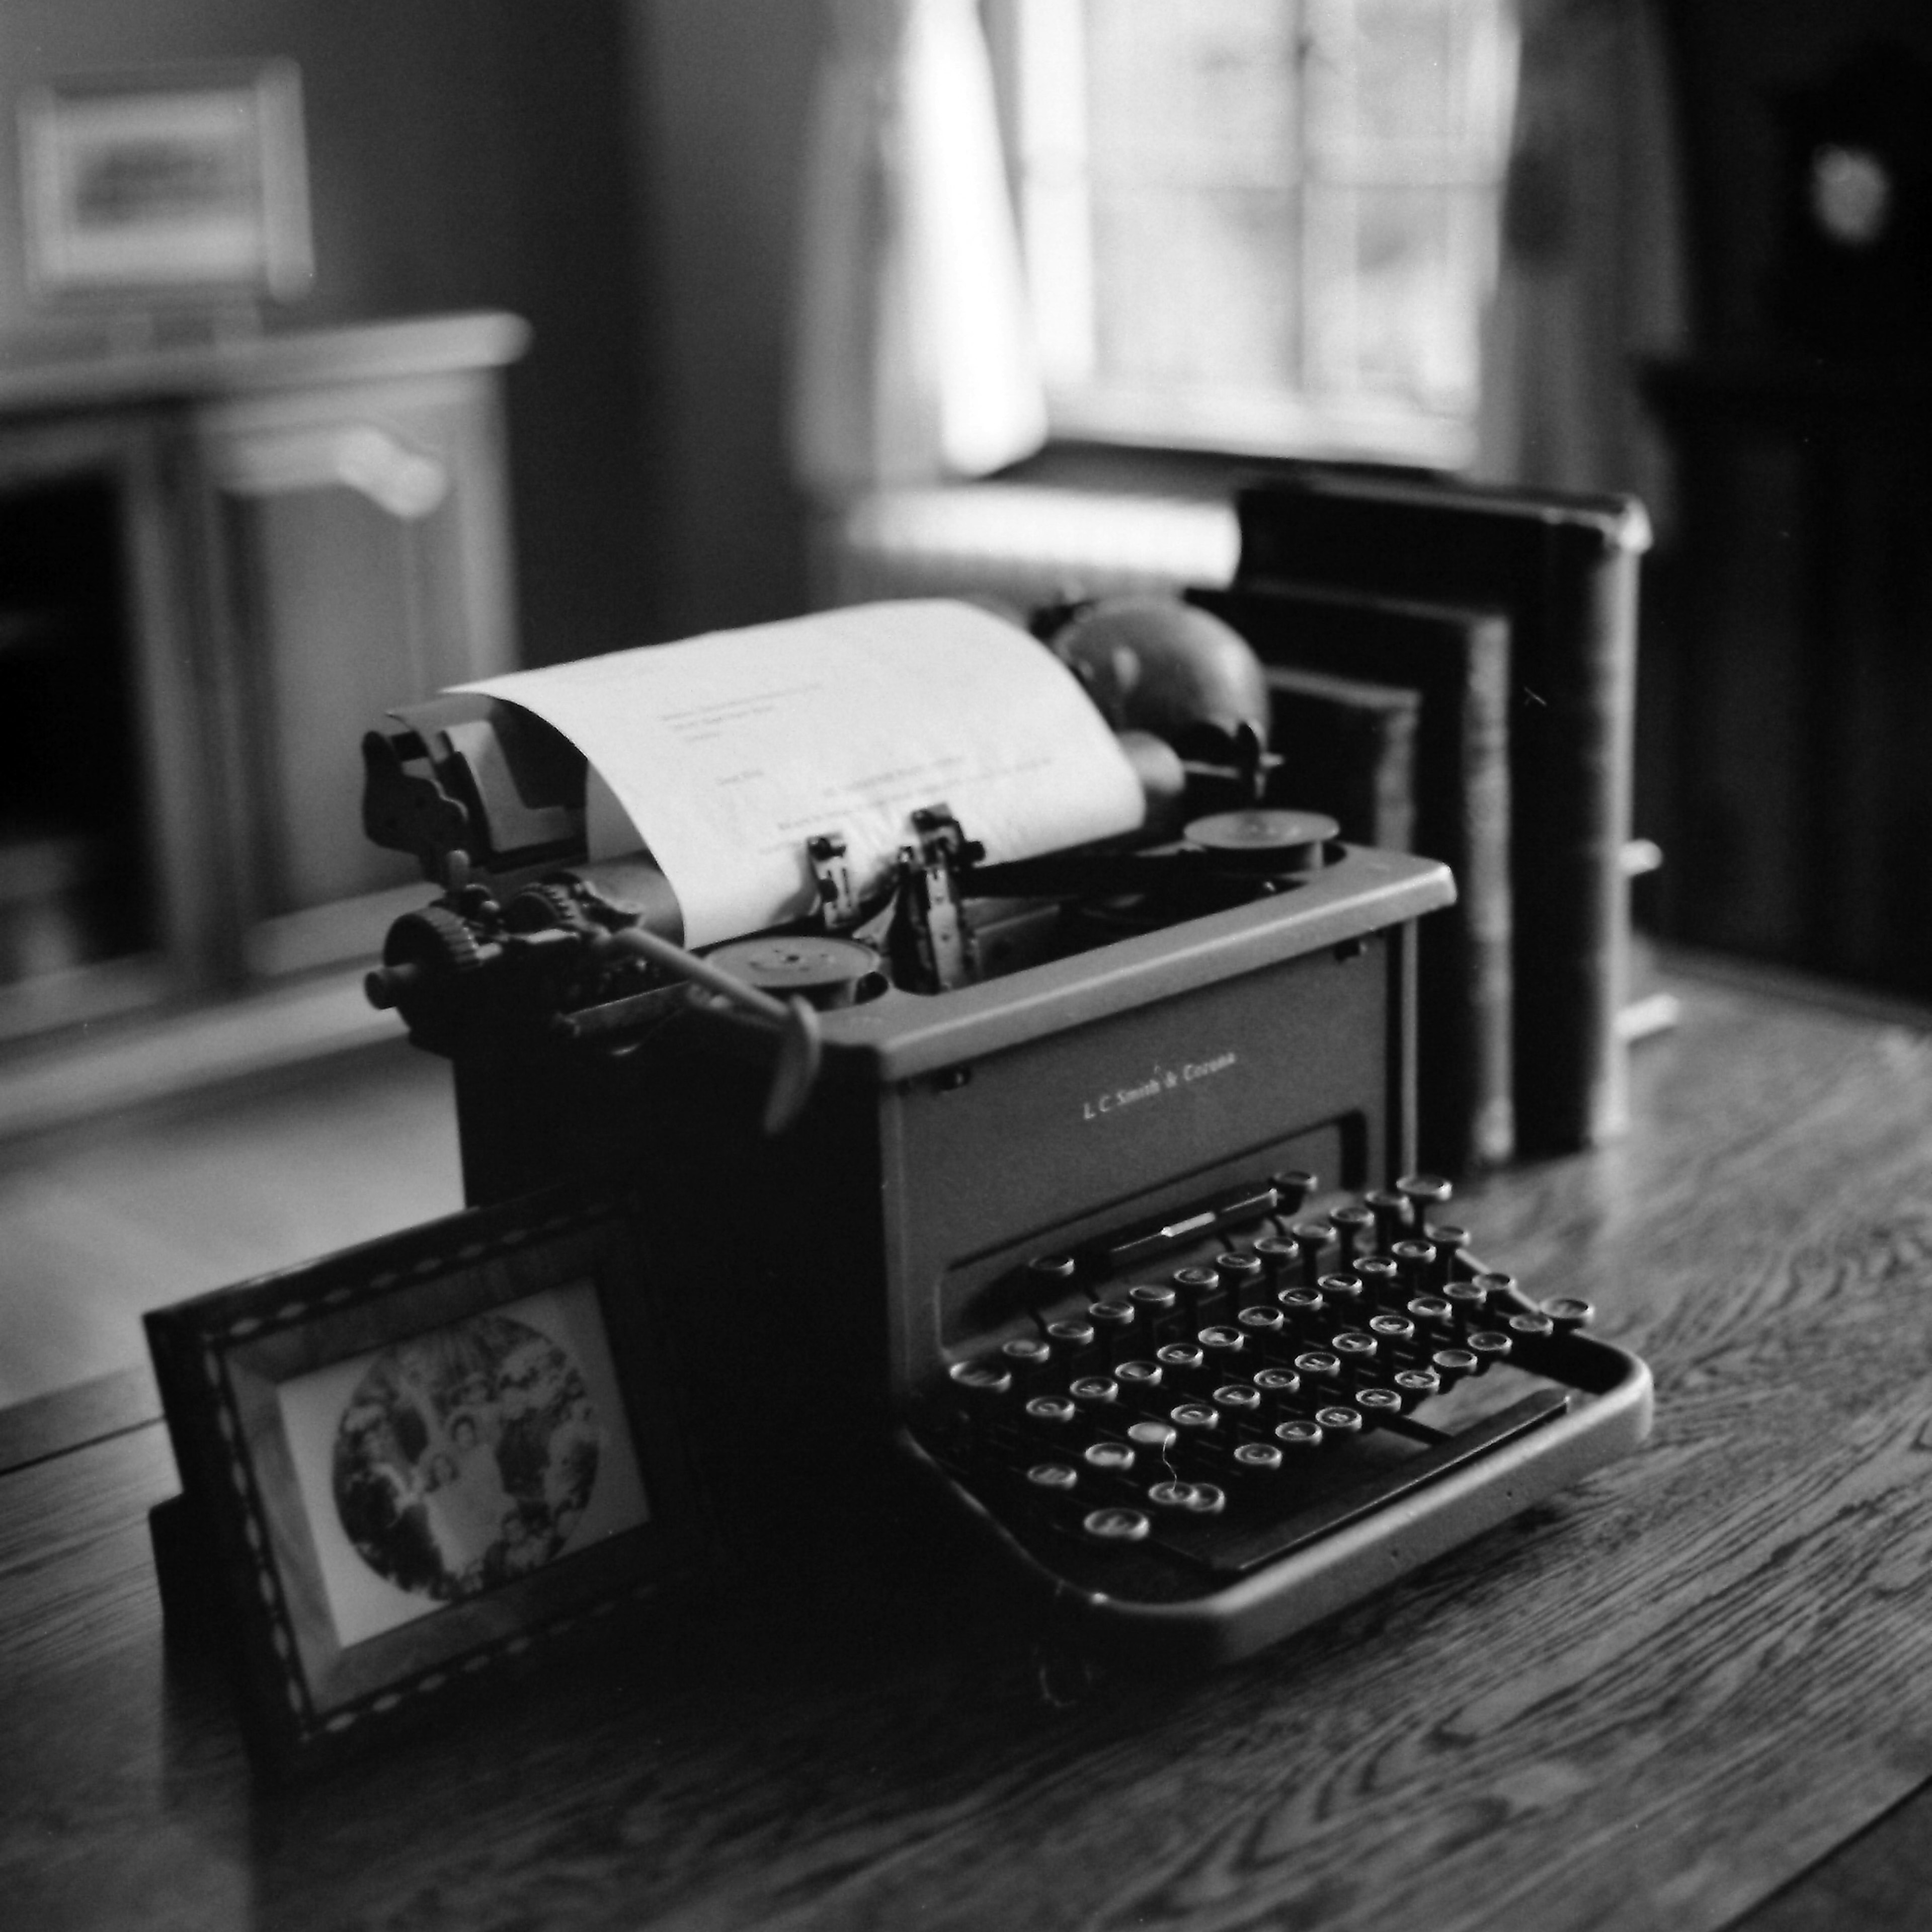
[[6, 346], [0, 1039], [381, 945], [413, 871], [361, 837], [352, 748], [516, 663], [526, 336]]

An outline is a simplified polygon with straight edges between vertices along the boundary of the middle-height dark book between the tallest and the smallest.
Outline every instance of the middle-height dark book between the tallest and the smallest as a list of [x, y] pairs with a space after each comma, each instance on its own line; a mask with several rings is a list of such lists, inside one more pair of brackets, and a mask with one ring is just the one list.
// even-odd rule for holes
[[[1420, 696], [1408, 848], [1455, 871], [1457, 904], [1424, 922], [1420, 939], [1418, 1151], [1451, 1175], [1507, 1161], [1515, 1151], [1507, 620], [1304, 583], [1188, 595], [1248, 639], [1271, 680], [1321, 672]], [[1285, 757], [1277, 792], [1291, 804], [1300, 802], [1294, 781]]]

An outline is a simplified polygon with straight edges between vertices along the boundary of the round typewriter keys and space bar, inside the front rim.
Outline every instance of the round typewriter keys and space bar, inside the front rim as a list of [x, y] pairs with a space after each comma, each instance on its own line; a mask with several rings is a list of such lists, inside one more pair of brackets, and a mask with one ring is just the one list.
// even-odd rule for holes
[[920, 1428], [931, 1457], [1055, 1571], [1159, 1600], [1223, 1588], [1567, 1410], [1584, 1302], [1536, 1304], [1486, 1269], [1439, 1213], [1445, 1182], [1294, 1219], [1312, 1186], [1275, 1177], [1248, 1238], [1090, 1298], [1076, 1258], [1036, 1262], [1028, 1331], [949, 1366]]

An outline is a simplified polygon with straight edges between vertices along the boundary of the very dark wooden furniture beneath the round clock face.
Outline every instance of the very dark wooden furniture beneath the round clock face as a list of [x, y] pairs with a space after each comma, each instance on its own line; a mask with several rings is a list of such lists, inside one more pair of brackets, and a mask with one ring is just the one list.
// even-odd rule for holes
[[1932, 359], [1656, 365], [1681, 495], [1644, 661], [1662, 929], [1932, 995]]

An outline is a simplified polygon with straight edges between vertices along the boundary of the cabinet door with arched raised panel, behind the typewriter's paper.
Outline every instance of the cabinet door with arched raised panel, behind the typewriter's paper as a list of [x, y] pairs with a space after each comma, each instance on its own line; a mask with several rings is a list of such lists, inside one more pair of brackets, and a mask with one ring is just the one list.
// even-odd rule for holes
[[245, 952], [259, 972], [379, 943], [415, 866], [361, 829], [361, 734], [512, 668], [489, 375], [274, 398], [211, 427]]

